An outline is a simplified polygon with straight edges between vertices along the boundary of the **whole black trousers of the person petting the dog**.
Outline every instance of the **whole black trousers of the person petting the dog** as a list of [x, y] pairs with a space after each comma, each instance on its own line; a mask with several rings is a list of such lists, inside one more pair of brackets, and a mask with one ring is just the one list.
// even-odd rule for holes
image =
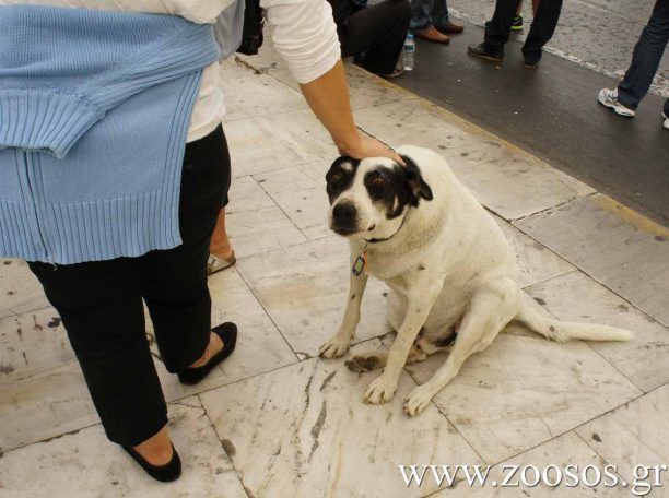
[[142, 298], [171, 372], [204, 352], [211, 330], [209, 241], [230, 186], [223, 129], [186, 146], [179, 203], [183, 244], [139, 258], [58, 265], [31, 262], [60, 313], [107, 437], [137, 446], [167, 423], [149, 351]]

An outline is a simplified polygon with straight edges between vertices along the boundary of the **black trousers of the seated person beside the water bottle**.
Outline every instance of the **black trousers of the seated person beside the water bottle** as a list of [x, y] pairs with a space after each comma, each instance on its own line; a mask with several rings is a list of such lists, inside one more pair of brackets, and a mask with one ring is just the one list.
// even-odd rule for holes
[[338, 26], [341, 56], [375, 74], [390, 74], [399, 60], [409, 32], [408, 0], [386, 0], [349, 15]]

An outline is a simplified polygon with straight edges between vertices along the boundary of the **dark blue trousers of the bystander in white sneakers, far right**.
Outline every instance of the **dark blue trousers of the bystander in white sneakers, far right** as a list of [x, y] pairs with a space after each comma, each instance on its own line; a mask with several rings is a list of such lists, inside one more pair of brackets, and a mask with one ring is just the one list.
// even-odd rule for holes
[[[636, 109], [648, 92], [668, 42], [669, 0], [657, 0], [650, 20], [634, 47], [632, 64], [618, 85], [618, 99], [626, 107]], [[669, 98], [665, 100], [665, 115], [669, 116]]]

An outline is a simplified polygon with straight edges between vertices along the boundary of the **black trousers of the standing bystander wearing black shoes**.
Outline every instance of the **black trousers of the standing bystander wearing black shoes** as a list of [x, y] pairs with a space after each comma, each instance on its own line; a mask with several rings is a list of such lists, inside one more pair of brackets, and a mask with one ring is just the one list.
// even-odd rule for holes
[[[508, 34], [519, 2], [520, 0], [497, 0], [495, 3], [495, 13], [485, 23], [483, 38], [492, 51], [504, 50], [504, 44], [508, 42]], [[532, 20], [532, 26], [523, 47], [523, 55], [527, 62], [536, 63], [541, 59], [541, 48], [553, 37], [561, 10], [562, 0], [541, 0], [539, 2], [537, 15]]]

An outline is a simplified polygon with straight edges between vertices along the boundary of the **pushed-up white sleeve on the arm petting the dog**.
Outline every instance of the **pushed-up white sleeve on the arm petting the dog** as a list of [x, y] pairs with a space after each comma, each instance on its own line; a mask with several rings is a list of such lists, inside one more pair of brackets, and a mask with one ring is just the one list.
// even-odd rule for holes
[[324, 75], [341, 58], [332, 9], [326, 0], [260, 0], [260, 5], [274, 25], [274, 48], [298, 83]]

